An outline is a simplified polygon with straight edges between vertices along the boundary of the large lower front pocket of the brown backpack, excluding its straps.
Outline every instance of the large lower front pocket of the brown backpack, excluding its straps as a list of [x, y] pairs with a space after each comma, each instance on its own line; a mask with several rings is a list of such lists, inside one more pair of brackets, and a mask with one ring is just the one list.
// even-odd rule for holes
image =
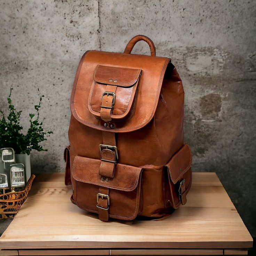
[[74, 200], [82, 209], [98, 213], [99, 187], [109, 188], [109, 216], [134, 219], [141, 208], [142, 168], [117, 163], [114, 177], [102, 181], [99, 175], [101, 160], [76, 156], [72, 166], [75, 179]]

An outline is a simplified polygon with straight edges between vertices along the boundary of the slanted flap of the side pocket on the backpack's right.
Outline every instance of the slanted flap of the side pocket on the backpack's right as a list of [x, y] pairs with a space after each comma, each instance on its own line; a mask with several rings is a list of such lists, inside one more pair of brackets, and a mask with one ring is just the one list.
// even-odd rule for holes
[[171, 181], [176, 184], [177, 181], [190, 169], [192, 165], [192, 154], [189, 145], [185, 144], [177, 151], [166, 167], [169, 171]]

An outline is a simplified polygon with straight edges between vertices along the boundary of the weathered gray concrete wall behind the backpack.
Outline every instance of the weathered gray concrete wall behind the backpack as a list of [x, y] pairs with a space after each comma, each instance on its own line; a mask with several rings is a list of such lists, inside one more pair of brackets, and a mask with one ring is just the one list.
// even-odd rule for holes
[[[0, 109], [40, 110], [48, 152], [32, 152], [34, 173], [64, 171], [69, 99], [88, 49], [122, 52], [145, 34], [172, 58], [185, 90], [185, 142], [193, 171], [216, 171], [256, 236], [256, 1], [0, 1]], [[134, 53], [149, 54], [139, 42]], [[3, 225], [2, 225], [3, 227]]]

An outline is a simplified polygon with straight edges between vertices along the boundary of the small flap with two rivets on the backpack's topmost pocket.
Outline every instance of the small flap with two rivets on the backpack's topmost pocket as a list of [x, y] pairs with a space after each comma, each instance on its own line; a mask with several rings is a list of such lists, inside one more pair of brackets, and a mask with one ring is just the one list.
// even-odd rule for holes
[[140, 74], [141, 69], [97, 65], [93, 78], [98, 83], [129, 87], [135, 84]]

